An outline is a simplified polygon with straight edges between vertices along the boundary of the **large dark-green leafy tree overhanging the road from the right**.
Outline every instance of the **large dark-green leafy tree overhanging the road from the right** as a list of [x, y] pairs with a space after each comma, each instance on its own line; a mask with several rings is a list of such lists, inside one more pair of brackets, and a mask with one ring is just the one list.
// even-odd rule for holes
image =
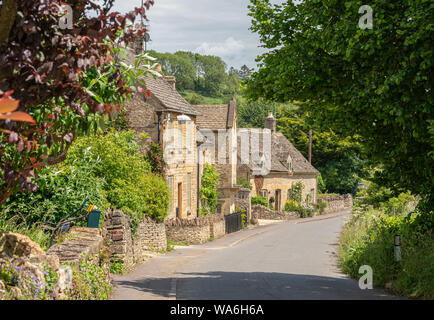
[[360, 135], [381, 166], [376, 180], [434, 207], [433, 10], [430, 1], [373, 0], [374, 26], [358, 26], [360, 1], [251, 0], [252, 30], [270, 49], [250, 97], [302, 101], [318, 121]]

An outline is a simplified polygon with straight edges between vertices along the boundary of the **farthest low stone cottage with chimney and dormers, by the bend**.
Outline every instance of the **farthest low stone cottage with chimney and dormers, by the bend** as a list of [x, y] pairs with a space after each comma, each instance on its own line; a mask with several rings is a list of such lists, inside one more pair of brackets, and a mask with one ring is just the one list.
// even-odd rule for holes
[[274, 198], [276, 211], [283, 210], [288, 190], [303, 184], [302, 200], [316, 202], [318, 193], [315, 169], [291, 142], [276, 132], [276, 119], [270, 112], [264, 130], [238, 129], [238, 178], [250, 181], [252, 196]]

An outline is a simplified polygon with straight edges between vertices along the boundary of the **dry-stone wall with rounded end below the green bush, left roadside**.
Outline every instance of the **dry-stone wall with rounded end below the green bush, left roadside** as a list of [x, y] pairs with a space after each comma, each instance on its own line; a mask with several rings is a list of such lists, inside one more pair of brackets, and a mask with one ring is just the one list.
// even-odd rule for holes
[[133, 236], [131, 219], [120, 210], [109, 210], [104, 229], [112, 251], [111, 261], [123, 262], [126, 269], [143, 262], [146, 250], [167, 248], [164, 223], [156, 223], [149, 217], [139, 223], [137, 233]]

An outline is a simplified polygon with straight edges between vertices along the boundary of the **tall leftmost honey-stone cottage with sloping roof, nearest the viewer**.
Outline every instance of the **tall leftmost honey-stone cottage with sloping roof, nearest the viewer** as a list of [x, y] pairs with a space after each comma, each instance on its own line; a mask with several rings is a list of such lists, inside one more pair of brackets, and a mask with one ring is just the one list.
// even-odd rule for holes
[[[136, 49], [128, 48], [130, 64], [140, 51]], [[157, 71], [161, 73], [161, 68]], [[144, 80], [151, 94], [139, 93], [126, 103], [128, 126], [138, 135], [146, 133], [163, 150], [165, 179], [171, 193], [168, 217], [195, 218], [199, 213], [197, 112], [176, 91], [175, 77], [147, 76]]]

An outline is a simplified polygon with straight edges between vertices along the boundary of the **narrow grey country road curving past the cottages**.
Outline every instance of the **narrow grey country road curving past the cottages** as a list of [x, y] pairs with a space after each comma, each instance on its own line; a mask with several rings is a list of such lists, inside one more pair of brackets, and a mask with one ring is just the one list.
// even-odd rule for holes
[[177, 247], [114, 276], [111, 299], [396, 299], [361, 290], [338, 270], [335, 253], [347, 218], [341, 212], [275, 223]]

